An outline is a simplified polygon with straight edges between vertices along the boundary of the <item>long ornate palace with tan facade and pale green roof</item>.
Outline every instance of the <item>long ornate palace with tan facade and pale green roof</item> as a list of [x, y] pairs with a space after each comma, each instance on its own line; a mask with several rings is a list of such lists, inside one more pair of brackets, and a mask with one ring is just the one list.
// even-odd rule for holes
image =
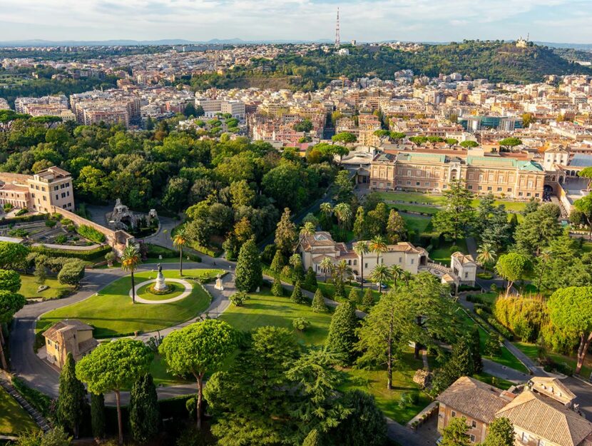
[[370, 187], [442, 192], [451, 181], [477, 194], [516, 199], [543, 198], [545, 171], [535, 161], [505, 156], [451, 156], [417, 151], [380, 153], [372, 161]]

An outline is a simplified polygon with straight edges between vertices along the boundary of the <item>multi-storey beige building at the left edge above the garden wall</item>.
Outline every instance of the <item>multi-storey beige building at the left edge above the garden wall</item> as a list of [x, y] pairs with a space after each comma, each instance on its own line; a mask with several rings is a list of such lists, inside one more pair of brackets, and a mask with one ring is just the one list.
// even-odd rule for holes
[[70, 173], [56, 166], [34, 175], [0, 172], [0, 204], [50, 213], [52, 206], [74, 210], [74, 189]]

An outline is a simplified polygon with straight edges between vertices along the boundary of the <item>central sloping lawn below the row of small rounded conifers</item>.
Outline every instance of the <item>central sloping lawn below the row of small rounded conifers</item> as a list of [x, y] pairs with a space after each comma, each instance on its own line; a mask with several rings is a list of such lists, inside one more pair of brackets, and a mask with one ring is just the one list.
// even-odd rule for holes
[[269, 288], [262, 288], [261, 293], [252, 293], [249, 297], [242, 307], [230, 305], [220, 315], [220, 320], [225, 320], [241, 331], [266, 325], [292, 330], [295, 318], [305, 318], [310, 322], [310, 327], [304, 332], [295, 330], [298, 340], [307, 345], [322, 345], [325, 342], [331, 322], [330, 314], [314, 313], [310, 305], [292, 303], [289, 295], [278, 298], [271, 295]]

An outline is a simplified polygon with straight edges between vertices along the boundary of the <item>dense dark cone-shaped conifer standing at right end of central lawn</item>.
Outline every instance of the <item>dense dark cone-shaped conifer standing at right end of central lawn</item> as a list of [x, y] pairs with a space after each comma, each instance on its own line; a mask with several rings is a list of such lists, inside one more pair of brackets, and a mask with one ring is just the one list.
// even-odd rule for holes
[[335, 353], [342, 363], [349, 364], [353, 359], [357, 323], [353, 302], [347, 300], [337, 305], [329, 325], [326, 345], [327, 349]]

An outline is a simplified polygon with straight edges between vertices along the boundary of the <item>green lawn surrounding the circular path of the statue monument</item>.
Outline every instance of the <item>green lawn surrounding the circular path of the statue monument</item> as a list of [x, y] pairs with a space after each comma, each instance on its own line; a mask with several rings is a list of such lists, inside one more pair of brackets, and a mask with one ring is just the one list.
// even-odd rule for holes
[[[184, 278], [211, 277], [218, 273], [223, 271], [186, 270]], [[165, 278], [179, 278], [176, 270], [164, 270], [163, 274]], [[155, 277], [155, 272], [136, 273], [136, 283]], [[131, 278], [120, 278], [91, 298], [42, 315], [36, 330], [41, 332], [59, 320], [71, 318], [93, 325], [95, 338], [129, 335], [136, 331], [148, 333], [195, 318], [210, 305], [210, 295], [199, 285], [194, 285], [192, 293], [183, 300], [154, 305], [133, 304], [129, 297], [130, 290]]]

